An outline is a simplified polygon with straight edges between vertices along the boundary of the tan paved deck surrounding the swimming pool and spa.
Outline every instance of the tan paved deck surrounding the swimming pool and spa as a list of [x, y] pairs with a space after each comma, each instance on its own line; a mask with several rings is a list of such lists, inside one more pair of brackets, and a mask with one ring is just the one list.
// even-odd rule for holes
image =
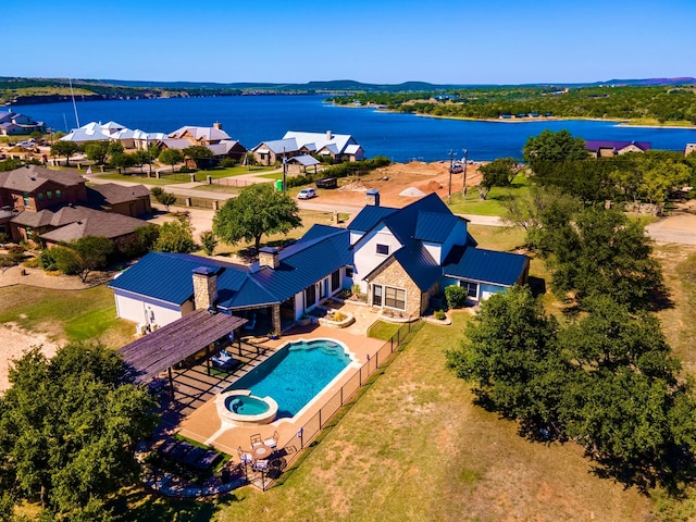
[[207, 444], [232, 456], [237, 455], [239, 447], [248, 450], [250, 448], [250, 436], [253, 434], [261, 434], [262, 438], [268, 439], [271, 438], [274, 432], [277, 432], [278, 448], [286, 446], [287, 443], [295, 437], [298, 430], [312, 419], [340, 387], [358, 373], [360, 366], [362, 366], [369, 358], [374, 357], [377, 350], [384, 345], [384, 340], [356, 335], [346, 330], [311, 325], [308, 327], [297, 326], [288, 333], [284, 333], [283, 338], [264, 343], [264, 348], [268, 350], [268, 357], [271, 357], [286, 343], [318, 338], [333, 339], [343, 343], [349, 352], [355, 356], [356, 361], [344, 371], [339, 378], [332, 382], [330, 388], [326, 388], [306, 406], [298, 415], [293, 419], [281, 419], [270, 424], [250, 426], [234, 425], [227, 422], [223, 423], [217, 414], [215, 398], [213, 397], [185, 417], [175, 430], [176, 433], [198, 443]]

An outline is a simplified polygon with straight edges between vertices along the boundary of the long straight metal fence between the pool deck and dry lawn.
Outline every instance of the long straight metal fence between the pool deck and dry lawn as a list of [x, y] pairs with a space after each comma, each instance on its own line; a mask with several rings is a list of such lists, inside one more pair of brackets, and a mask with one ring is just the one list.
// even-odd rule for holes
[[[286, 468], [289, 468], [302, 453], [303, 449], [309, 446], [319, 435], [322, 428], [334, 418], [334, 415], [348, 403], [352, 397], [362, 388], [368, 380], [376, 373], [376, 371], [386, 364], [391, 356], [398, 351], [399, 347], [409, 340], [411, 334], [414, 334], [423, 326], [423, 321], [406, 323], [396, 334], [387, 339], [384, 345], [376, 351], [374, 357], [360, 366], [360, 370], [336, 391], [326, 403], [316, 412], [309, 421], [307, 421], [284, 446], [286, 455]], [[288, 448], [290, 451], [288, 451]], [[275, 480], [261, 481], [263, 490], [275, 484]]]

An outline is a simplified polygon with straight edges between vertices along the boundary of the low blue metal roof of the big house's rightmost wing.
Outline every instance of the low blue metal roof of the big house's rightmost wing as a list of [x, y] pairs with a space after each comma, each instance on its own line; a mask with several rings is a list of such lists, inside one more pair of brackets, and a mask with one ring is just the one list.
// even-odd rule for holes
[[527, 263], [529, 258], [519, 253], [467, 248], [459, 261], [444, 268], [444, 274], [478, 283], [512, 286]]

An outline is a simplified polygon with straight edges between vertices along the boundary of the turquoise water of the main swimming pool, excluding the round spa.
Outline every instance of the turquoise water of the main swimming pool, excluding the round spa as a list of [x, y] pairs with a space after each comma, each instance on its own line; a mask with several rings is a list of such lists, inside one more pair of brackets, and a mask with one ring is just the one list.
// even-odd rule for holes
[[234, 383], [226, 391], [249, 389], [278, 403], [276, 419], [295, 417], [350, 363], [338, 343], [328, 339], [289, 343]]

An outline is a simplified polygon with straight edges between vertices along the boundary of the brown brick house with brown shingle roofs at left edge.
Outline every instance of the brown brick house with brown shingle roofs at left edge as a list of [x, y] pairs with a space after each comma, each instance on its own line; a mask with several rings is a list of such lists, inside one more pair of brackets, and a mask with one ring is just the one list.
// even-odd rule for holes
[[128, 221], [130, 216], [151, 212], [150, 191], [144, 185], [87, 187], [86, 179], [77, 171], [53, 171], [38, 165], [0, 172], [0, 208], [13, 212], [9, 220], [9, 234], [16, 241], [40, 236], [85, 217], [108, 221], [116, 227], [114, 233], [119, 234], [113, 237], [117, 237], [122, 235], [123, 223], [136, 228], [147, 224], [140, 220]]

